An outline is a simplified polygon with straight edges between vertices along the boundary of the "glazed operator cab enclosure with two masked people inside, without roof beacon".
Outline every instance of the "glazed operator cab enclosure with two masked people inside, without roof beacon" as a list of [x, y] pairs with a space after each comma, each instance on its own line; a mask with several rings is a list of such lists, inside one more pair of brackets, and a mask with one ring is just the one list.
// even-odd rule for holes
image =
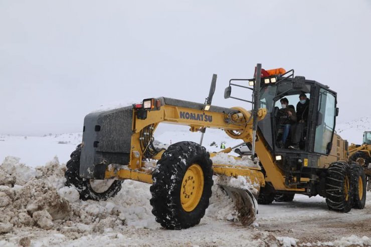
[[264, 78], [259, 102], [268, 116], [258, 126], [270, 148], [328, 155], [338, 113], [336, 93], [293, 74], [274, 77], [274, 83]]

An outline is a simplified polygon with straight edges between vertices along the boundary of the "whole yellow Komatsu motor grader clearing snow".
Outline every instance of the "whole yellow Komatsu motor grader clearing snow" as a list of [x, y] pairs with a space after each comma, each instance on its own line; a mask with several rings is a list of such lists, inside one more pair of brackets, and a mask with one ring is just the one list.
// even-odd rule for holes
[[[214, 90], [215, 82], [213, 76]], [[236, 87], [251, 92], [252, 99], [232, 96]], [[300, 149], [282, 148], [277, 145], [278, 102], [301, 93], [310, 95], [310, 103]], [[328, 86], [294, 76], [293, 70], [265, 71], [257, 64], [254, 78], [230, 80], [225, 98], [252, 103], [252, 110], [218, 107], [208, 104], [211, 100], [201, 104], [160, 97], [88, 114], [82, 144], [67, 162], [66, 185], [74, 185], [83, 200], [100, 200], [116, 195], [124, 179], [149, 183], [152, 213], [167, 229], [188, 228], [200, 222], [209, 205], [213, 175], [244, 176], [255, 186], [258, 193], [221, 184], [240, 209], [245, 224], [255, 219], [256, 198], [266, 204], [278, 193], [288, 197], [319, 194], [326, 198], [329, 209], [341, 212], [364, 207], [363, 170], [345, 161], [346, 141], [334, 134], [336, 93]], [[203, 133], [206, 128], [222, 129], [251, 147], [251, 159], [257, 166], [213, 162], [218, 153], [209, 153], [195, 142], [156, 149], [153, 134], [161, 123], [187, 125], [190, 131]]]

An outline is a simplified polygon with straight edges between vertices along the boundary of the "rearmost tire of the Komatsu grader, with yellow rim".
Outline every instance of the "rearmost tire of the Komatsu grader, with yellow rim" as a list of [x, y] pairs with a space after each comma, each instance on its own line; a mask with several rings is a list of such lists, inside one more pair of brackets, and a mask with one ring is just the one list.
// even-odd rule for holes
[[363, 209], [366, 204], [366, 175], [358, 164], [350, 165], [353, 183], [353, 208]]

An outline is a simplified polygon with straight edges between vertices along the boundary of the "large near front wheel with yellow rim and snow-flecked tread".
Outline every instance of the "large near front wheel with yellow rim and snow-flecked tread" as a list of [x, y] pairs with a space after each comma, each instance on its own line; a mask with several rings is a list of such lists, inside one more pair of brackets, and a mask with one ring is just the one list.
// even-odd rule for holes
[[212, 193], [212, 164], [209, 152], [195, 142], [174, 143], [163, 152], [150, 187], [158, 223], [177, 230], [200, 223]]

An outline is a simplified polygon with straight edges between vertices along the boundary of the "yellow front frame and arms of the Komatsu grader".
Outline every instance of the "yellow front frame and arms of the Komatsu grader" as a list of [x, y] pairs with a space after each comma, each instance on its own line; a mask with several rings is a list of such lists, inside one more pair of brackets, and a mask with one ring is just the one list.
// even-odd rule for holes
[[[252, 120], [248, 121], [251, 116], [251, 112], [241, 107], [233, 107], [232, 109], [238, 111], [232, 116], [228, 116], [225, 113], [212, 112], [205, 110], [197, 110], [192, 108], [162, 105], [159, 110], [147, 111], [147, 117], [145, 119], [138, 119], [136, 111], [133, 111], [133, 123], [132, 123], [132, 136], [131, 136], [131, 155], [129, 165], [125, 168], [120, 169], [109, 169], [107, 168], [105, 178], [117, 178], [117, 179], [132, 179], [146, 183], [152, 183], [151, 170], [143, 167], [143, 154], [140, 147], [140, 131], [148, 126], [153, 125], [154, 128], [161, 122], [188, 125], [190, 131], [199, 131], [202, 128], [217, 128], [223, 129], [228, 136], [234, 139], [242, 139], [245, 142], [253, 141], [253, 130]], [[208, 115], [212, 118], [211, 122], [200, 121], [197, 118], [185, 119], [181, 118], [180, 112], [187, 112], [194, 114], [194, 116], [205, 116]], [[259, 109], [258, 121], [262, 120], [266, 116], [266, 109]], [[227, 121], [229, 120], [229, 121]], [[226, 176], [246, 176], [249, 177], [253, 184], [257, 184], [259, 187], [264, 187], [265, 182], [269, 181], [273, 184], [277, 190], [290, 190], [290, 191], [305, 191], [304, 189], [296, 187], [285, 186], [285, 176], [283, 171], [275, 164], [274, 159], [263, 142], [262, 136], [257, 135], [256, 140], [256, 153], [266, 170], [266, 177], [264, 177], [260, 168], [252, 168], [247, 166], [233, 166], [228, 164], [213, 164], [214, 173]], [[229, 152], [230, 150], [224, 150]], [[161, 158], [163, 151], [152, 157], [154, 160]], [[308, 182], [309, 180], [303, 179], [301, 182]], [[257, 188], [259, 189], [259, 188]]]

